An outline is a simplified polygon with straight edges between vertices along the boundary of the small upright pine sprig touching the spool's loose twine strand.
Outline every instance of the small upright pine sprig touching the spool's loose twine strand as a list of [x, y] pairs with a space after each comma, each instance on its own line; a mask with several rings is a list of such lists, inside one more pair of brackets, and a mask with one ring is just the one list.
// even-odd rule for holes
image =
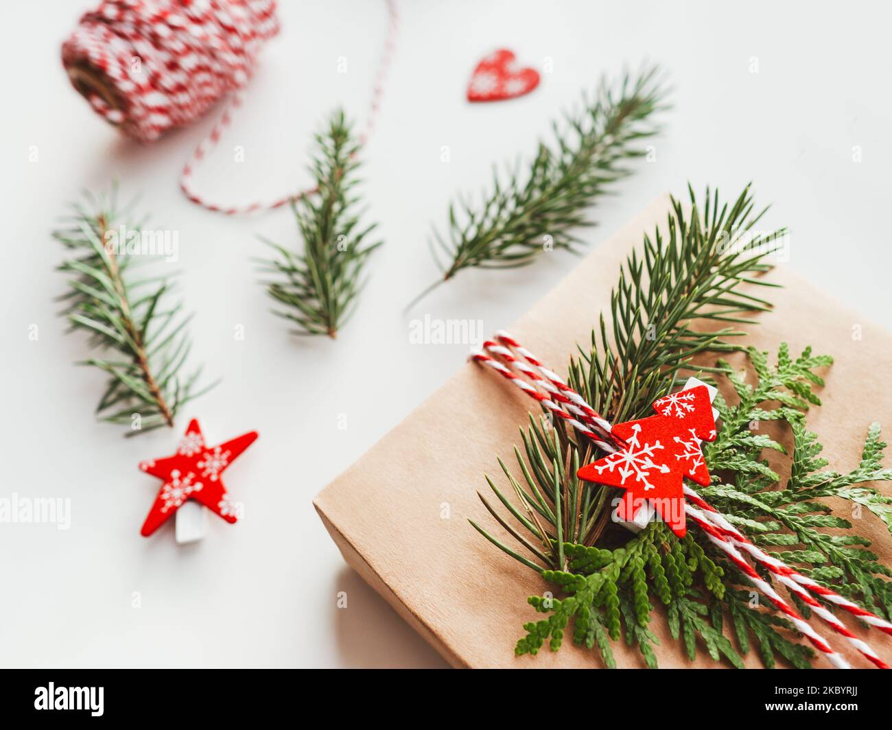
[[278, 256], [265, 261], [262, 270], [276, 277], [266, 286], [285, 305], [274, 310], [277, 315], [293, 322], [298, 334], [334, 338], [356, 307], [368, 255], [382, 242], [366, 243], [377, 224], [360, 224], [355, 189], [359, 142], [343, 112], [332, 114], [315, 138], [310, 172], [318, 195], [292, 203], [301, 250], [267, 241]]

